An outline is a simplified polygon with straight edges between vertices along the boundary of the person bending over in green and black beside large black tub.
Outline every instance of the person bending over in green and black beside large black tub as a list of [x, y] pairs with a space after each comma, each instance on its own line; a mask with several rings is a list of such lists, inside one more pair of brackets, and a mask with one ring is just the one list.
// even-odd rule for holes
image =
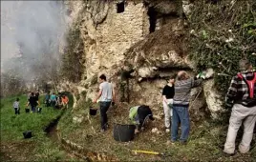
[[145, 119], [155, 120], [149, 106], [141, 105], [130, 108], [129, 119], [136, 125], [136, 133], [144, 127]]

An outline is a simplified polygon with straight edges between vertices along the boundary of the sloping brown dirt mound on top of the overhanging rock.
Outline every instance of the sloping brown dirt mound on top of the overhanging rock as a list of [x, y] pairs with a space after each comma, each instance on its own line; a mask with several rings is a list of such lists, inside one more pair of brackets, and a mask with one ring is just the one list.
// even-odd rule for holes
[[[184, 58], [187, 49], [185, 34], [186, 30], [184, 29], [183, 21], [181, 19], [173, 19], [160, 30], [147, 35], [130, 48], [125, 54], [126, 64], [136, 64], [139, 67], [150, 62], [154, 65], [154, 62], [160, 59], [160, 54], [168, 55], [169, 51], [175, 51], [178, 56]], [[142, 53], [139, 58], [136, 58], [138, 57], [137, 53]], [[134, 62], [135, 59], [136, 62]]]

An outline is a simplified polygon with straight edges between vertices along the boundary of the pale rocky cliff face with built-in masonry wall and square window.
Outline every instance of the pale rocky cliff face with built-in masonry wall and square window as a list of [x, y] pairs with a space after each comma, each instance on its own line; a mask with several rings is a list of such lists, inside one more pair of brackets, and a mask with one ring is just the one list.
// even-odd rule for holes
[[[193, 74], [187, 58], [187, 30], [182, 12], [191, 4], [181, 1], [68, 1], [71, 27], [78, 26], [84, 43], [84, 78], [79, 86], [94, 98], [96, 79], [105, 73], [116, 85], [121, 102], [148, 104], [160, 110], [161, 90], [170, 74], [186, 70]], [[204, 111], [220, 101], [207, 89], [193, 91], [192, 110]], [[204, 94], [206, 96], [203, 95]], [[201, 94], [200, 94], [201, 93]], [[210, 96], [207, 97], [207, 96]], [[219, 111], [219, 109], [217, 109]]]

